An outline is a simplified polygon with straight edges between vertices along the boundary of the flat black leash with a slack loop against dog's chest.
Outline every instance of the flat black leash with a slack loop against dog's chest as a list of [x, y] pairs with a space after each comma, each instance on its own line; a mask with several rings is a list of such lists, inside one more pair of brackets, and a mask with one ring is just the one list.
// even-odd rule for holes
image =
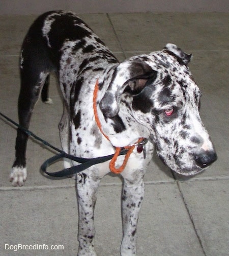
[[[55, 151], [58, 151], [60, 153], [60, 154], [57, 154], [57, 155], [54, 155], [54, 156], [50, 157], [49, 159], [44, 161], [43, 164], [41, 165], [41, 170], [44, 173], [48, 174], [49, 176], [52, 176], [52, 177], [66, 177], [66, 176], [70, 176], [72, 174], [79, 173], [79, 172], [89, 168], [90, 166], [93, 166], [93, 165], [96, 165], [96, 164], [100, 164], [101, 162], [108, 161], [108, 160], [112, 159], [112, 157], [114, 155], [114, 154], [112, 154], [112, 155], [101, 156], [101, 157], [96, 157], [96, 158], [82, 158], [82, 157], [77, 157], [77, 156], [69, 155], [66, 152], [64, 152], [63, 150], [60, 150], [60, 149], [52, 146], [48, 142], [44, 141], [44, 139], [40, 138], [39, 136], [37, 136], [36, 134], [31, 132], [30, 130], [25, 129], [23, 126], [21, 126], [18, 123], [14, 122], [12, 119], [8, 118], [2, 112], [0, 112], [0, 115], [2, 115], [2, 117], [4, 117], [10, 123], [12, 123], [15, 126], [17, 126], [20, 130], [22, 130], [28, 136], [34, 137], [37, 141], [40, 141], [45, 146], [48, 146], [51, 149], [53, 149]], [[127, 153], [127, 151], [128, 150], [123, 149], [123, 150], [120, 151], [119, 155], [125, 155]], [[72, 166], [70, 168], [66, 168], [66, 169], [63, 169], [63, 170], [58, 171], [58, 172], [47, 172], [47, 168], [50, 165], [52, 165], [55, 161], [57, 161], [57, 160], [59, 160], [61, 158], [71, 159], [72, 161], [79, 162], [80, 165]]]

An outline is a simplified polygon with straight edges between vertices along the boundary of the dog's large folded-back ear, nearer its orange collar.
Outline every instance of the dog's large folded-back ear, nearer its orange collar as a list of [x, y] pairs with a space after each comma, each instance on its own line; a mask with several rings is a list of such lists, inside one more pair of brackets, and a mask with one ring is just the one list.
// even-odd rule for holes
[[143, 60], [128, 60], [115, 67], [112, 80], [99, 103], [104, 117], [113, 118], [119, 112], [119, 104], [123, 91], [138, 94], [149, 79], [156, 78], [156, 71]]

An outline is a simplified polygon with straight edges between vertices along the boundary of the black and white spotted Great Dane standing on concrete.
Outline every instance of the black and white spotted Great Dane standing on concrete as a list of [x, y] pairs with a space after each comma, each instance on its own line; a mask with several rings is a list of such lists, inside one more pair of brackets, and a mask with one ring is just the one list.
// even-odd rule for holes
[[[201, 118], [197, 87], [187, 66], [191, 55], [174, 44], [161, 51], [119, 63], [104, 43], [74, 13], [47, 12], [34, 22], [21, 49], [19, 122], [28, 128], [40, 94], [49, 101], [50, 72], [58, 77], [64, 98], [60, 122], [63, 150], [92, 158], [113, 154], [116, 147], [149, 139], [146, 154], [131, 153], [124, 171], [122, 196], [122, 255], [136, 252], [136, 226], [144, 197], [142, 178], [152, 158], [153, 145], [163, 162], [183, 175], [203, 171], [217, 158]], [[93, 95], [98, 80], [95, 122]], [[42, 90], [43, 88], [43, 90]], [[10, 175], [13, 185], [26, 179], [27, 135], [17, 131], [16, 159]], [[138, 144], [137, 144], [138, 145]], [[123, 163], [119, 156], [116, 167]], [[68, 168], [73, 163], [65, 161]], [[96, 192], [109, 162], [76, 175], [79, 207], [78, 255], [96, 255], [93, 223]]]

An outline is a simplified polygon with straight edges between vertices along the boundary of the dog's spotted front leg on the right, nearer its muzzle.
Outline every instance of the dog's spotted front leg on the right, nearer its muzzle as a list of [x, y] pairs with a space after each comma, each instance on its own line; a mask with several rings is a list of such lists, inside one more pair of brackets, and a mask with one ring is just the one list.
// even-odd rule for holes
[[137, 182], [124, 178], [122, 195], [123, 240], [121, 255], [136, 254], [136, 229], [141, 202], [144, 198], [145, 185], [142, 177]]

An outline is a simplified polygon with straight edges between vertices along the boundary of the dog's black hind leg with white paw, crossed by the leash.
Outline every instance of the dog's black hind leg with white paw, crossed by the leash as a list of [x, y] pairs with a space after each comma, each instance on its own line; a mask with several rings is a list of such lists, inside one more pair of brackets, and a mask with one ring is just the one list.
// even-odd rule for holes
[[[20, 57], [20, 94], [18, 98], [19, 124], [28, 129], [34, 106], [40, 91], [50, 72], [50, 62], [42, 49], [42, 43], [28, 34], [22, 45]], [[19, 128], [15, 145], [15, 161], [11, 170], [10, 180], [14, 186], [22, 186], [27, 176], [25, 152], [28, 135]]]

